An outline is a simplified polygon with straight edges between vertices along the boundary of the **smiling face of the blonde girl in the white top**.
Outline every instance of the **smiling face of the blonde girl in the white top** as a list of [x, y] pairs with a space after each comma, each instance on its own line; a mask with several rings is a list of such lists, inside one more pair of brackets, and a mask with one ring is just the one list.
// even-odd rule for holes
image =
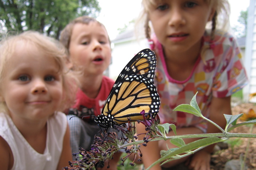
[[[38, 53], [33, 44], [21, 42], [8, 59], [2, 97], [15, 120], [48, 118], [62, 99], [62, 76], [53, 57]], [[28, 48], [29, 47], [29, 48]]]

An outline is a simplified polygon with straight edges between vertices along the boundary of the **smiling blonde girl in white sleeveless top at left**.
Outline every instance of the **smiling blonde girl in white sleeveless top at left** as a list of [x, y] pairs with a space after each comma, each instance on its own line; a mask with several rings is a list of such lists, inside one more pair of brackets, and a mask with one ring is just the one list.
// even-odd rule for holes
[[72, 160], [60, 112], [74, 101], [65, 65], [64, 46], [38, 32], [1, 41], [1, 170], [61, 170]]

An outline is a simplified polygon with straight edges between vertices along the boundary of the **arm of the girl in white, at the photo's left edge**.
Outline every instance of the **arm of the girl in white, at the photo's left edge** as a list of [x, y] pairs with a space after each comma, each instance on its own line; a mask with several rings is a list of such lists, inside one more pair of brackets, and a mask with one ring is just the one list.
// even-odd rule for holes
[[12, 150], [8, 143], [0, 136], [0, 165], [1, 170], [10, 170], [13, 166]]

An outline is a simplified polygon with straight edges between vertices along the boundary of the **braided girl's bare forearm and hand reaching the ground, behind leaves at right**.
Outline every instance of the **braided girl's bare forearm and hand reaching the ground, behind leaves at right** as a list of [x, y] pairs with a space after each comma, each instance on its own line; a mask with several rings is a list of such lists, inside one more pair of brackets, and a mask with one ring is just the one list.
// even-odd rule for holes
[[[223, 114], [231, 114], [231, 97], [212, 98], [210, 106], [210, 120], [218, 124], [221, 128], [225, 128], [226, 120]], [[207, 133], [219, 133], [220, 130], [213, 124], [208, 124]], [[210, 153], [214, 145], [210, 145], [194, 154], [191, 158], [190, 168], [193, 170], [210, 170]]]

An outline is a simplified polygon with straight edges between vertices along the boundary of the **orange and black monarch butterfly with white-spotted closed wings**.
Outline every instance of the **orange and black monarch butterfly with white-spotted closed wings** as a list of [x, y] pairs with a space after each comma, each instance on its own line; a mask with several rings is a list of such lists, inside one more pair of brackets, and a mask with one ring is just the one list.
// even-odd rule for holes
[[[124, 67], [106, 102], [102, 113], [94, 121], [104, 128], [143, 120], [140, 112], [151, 113], [154, 118], [159, 111], [160, 98], [154, 86], [156, 56], [144, 49]], [[148, 118], [150, 118], [148, 116]]]

